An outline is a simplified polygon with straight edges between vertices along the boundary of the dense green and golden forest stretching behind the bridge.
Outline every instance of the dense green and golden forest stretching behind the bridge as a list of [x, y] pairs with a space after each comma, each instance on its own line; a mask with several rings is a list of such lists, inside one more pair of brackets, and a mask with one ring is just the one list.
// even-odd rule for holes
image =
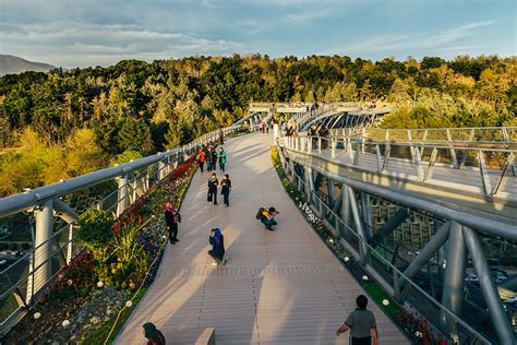
[[517, 58], [190, 57], [0, 78], [0, 197], [184, 144], [250, 102], [386, 99], [384, 128], [517, 126]]

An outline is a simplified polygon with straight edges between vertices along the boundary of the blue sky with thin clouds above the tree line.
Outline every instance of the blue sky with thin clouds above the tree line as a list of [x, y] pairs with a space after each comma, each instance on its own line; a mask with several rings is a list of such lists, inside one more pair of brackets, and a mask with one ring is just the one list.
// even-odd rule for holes
[[515, 0], [0, 0], [0, 53], [65, 68], [260, 52], [514, 56]]

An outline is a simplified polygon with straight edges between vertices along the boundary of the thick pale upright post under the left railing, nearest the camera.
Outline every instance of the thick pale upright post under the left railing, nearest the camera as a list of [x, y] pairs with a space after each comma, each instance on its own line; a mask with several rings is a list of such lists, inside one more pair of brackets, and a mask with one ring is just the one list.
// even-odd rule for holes
[[[53, 201], [48, 200], [34, 211], [36, 234], [34, 238], [34, 258], [32, 286], [27, 287], [27, 301], [31, 301], [52, 276], [52, 207]], [[31, 294], [28, 294], [31, 290]]]

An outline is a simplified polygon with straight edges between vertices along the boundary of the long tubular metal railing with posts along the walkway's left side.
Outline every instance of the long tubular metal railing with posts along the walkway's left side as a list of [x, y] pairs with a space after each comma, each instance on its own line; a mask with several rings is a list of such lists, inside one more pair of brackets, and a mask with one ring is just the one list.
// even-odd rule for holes
[[[59, 198], [83, 188], [122, 175], [123, 178], [119, 179], [119, 188], [91, 207], [120, 215], [149, 188], [160, 183], [181, 160], [195, 154], [202, 144], [217, 141], [221, 132], [226, 136], [239, 129], [240, 126], [232, 126], [216, 130], [167, 153], [95, 171], [77, 177], [75, 181], [69, 183], [62, 181], [31, 192], [3, 198], [0, 200], [0, 217], [27, 210], [37, 212], [38, 207], [41, 207], [40, 205], [45, 206], [49, 200], [59, 200]], [[87, 179], [83, 180], [85, 177]], [[70, 210], [70, 213], [73, 213], [73, 210]], [[35, 241], [38, 245], [35, 245], [33, 249], [0, 272], [0, 333], [9, 331], [23, 317], [24, 311], [37, 302], [40, 296], [45, 294], [48, 284], [55, 279], [61, 269], [67, 266], [75, 254], [83, 249], [79, 239], [73, 236], [73, 227], [77, 225], [77, 216], [73, 215], [72, 218], [69, 219], [69, 224], [52, 231], [52, 223], [56, 223], [56, 219], [52, 219], [50, 213], [50, 224], [48, 224], [50, 236], [44, 238], [44, 240]], [[36, 222], [38, 222], [37, 218]], [[36, 233], [36, 238], [40, 236], [37, 231], [38, 224], [36, 224], [36, 229], [33, 229], [33, 234]]]

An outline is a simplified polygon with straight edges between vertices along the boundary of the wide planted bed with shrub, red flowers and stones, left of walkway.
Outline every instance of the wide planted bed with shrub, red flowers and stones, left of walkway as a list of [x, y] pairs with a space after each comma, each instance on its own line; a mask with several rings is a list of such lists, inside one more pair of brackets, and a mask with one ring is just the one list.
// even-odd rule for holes
[[194, 157], [185, 160], [116, 219], [108, 211], [81, 215], [76, 236], [85, 249], [58, 273], [5, 343], [112, 341], [156, 276], [167, 243], [164, 204], [180, 207], [194, 163]]

